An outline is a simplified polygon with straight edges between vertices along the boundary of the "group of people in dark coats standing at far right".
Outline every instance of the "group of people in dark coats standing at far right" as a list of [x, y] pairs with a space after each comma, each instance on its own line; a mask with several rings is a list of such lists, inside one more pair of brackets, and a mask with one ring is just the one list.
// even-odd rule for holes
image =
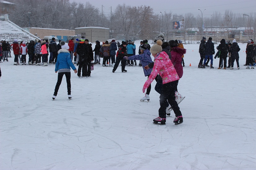
[[[236, 42], [236, 39], [232, 41], [226, 42], [225, 39], [222, 39], [220, 41], [220, 45], [217, 47], [218, 52], [215, 55], [215, 59], [218, 57], [219, 60], [219, 67], [218, 69], [226, 70], [227, 68], [230, 68], [231, 70], [234, 69], [234, 62], [236, 61], [237, 69], [240, 69], [239, 66], [239, 54], [240, 51], [239, 45]], [[199, 53], [200, 53], [200, 62], [198, 64], [198, 68], [205, 68], [205, 67], [213, 67], [213, 55], [215, 54], [214, 50], [214, 44], [212, 42], [212, 37], [209, 37], [209, 39], [206, 42], [206, 38], [203, 37], [199, 46]], [[228, 57], [228, 61], [227, 61]], [[208, 65], [209, 61], [210, 66]], [[256, 60], [256, 43], [254, 43], [253, 40], [249, 40], [247, 42], [246, 46], [246, 63], [244, 66], [247, 66], [246, 69], [254, 69], [255, 66], [255, 60]], [[228, 63], [227, 63], [228, 62]], [[228, 66], [227, 66], [228, 65]]]

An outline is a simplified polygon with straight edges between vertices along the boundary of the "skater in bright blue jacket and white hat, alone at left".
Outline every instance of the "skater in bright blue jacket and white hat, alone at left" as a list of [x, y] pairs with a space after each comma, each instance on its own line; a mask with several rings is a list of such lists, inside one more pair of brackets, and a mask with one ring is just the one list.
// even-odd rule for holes
[[70, 67], [74, 70], [75, 73], [77, 73], [77, 70], [74, 66], [74, 64], [71, 61], [70, 52], [68, 51], [69, 46], [64, 41], [61, 41], [61, 49], [58, 51], [58, 57], [57, 62], [55, 65], [55, 73], [58, 73], [58, 80], [55, 86], [54, 94], [52, 96], [52, 99], [54, 100], [57, 96], [58, 90], [61, 85], [62, 77], [65, 74], [66, 80], [67, 80], [67, 88], [68, 88], [68, 98], [71, 99], [71, 82], [70, 82]]

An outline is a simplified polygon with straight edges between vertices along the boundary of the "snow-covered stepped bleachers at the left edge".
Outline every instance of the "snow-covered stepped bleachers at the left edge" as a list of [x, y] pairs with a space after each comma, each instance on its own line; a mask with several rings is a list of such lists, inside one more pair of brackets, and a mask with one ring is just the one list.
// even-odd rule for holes
[[18, 42], [39, 39], [38, 37], [30, 34], [24, 29], [20, 28], [16, 24], [9, 21], [9, 19], [0, 20], [0, 40], [6, 40], [12, 42], [17, 39]]

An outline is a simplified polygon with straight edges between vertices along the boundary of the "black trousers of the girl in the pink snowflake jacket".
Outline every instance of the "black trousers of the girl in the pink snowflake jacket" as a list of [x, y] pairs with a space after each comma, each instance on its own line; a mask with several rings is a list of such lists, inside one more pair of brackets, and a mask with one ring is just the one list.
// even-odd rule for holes
[[166, 118], [166, 100], [173, 108], [175, 116], [182, 116], [180, 108], [175, 101], [175, 91], [178, 85], [178, 80], [163, 84], [162, 93], [160, 94], [160, 108], [158, 110], [159, 117]]

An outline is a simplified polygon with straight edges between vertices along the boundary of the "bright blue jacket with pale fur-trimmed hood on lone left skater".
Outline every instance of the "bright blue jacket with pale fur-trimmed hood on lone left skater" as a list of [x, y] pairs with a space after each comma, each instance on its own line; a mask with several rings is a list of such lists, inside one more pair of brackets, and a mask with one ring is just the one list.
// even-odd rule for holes
[[74, 64], [71, 61], [70, 53], [66, 49], [60, 49], [58, 51], [57, 62], [55, 65], [55, 71], [60, 69], [70, 69], [76, 70]]

